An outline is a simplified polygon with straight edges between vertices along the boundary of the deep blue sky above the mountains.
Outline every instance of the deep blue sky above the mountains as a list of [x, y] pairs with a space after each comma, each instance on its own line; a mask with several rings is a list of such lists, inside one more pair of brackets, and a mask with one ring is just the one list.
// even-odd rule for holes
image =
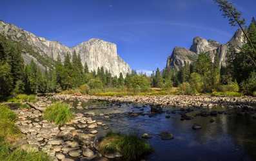
[[[232, 2], [248, 22], [256, 16], [255, 0]], [[66, 46], [113, 42], [135, 70], [164, 68], [195, 36], [226, 43], [237, 30], [212, 0], [1, 0], [0, 19]]]

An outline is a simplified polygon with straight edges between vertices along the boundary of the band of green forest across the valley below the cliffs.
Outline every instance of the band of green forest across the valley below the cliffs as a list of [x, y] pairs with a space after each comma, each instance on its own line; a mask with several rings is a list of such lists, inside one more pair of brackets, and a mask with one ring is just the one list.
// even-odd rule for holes
[[246, 28], [247, 41], [240, 52], [228, 52], [227, 66], [220, 66], [219, 60], [211, 61], [208, 53], [200, 53], [197, 61], [185, 64], [181, 70], [165, 68], [152, 73], [113, 76], [104, 68], [89, 71], [87, 64], [81, 63], [80, 55], [66, 53], [50, 66], [41, 69], [32, 60], [25, 65], [20, 43], [0, 37], [0, 98], [17, 93], [55, 93], [64, 90], [121, 89], [123, 91], [148, 91], [150, 88], [170, 90], [178, 87], [179, 94], [231, 92], [231, 95], [256, 95], [256, 21], [253, 18]]

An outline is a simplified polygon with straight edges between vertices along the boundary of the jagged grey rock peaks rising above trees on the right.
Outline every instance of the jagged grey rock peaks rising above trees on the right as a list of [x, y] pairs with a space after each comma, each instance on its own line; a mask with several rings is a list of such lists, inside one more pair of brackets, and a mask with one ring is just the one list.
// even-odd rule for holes
[[207, 52], [212, 62], [216, 57], [219, 57], [220, 66], [226, 66], [227, 53], [229, 49], [239, 51], [245, 39], [241, 30], [237, 30], [233, 37], [226, 44], [218, 43], [213, 40], [206, 40], [202, 37], [195, 37], [190, 49], [175, 47], [172, 55], [168, 57], [166, 66], [173, 67], [177, 70], [184, 66], [185, 63], [192, 63], [197, 60], [199, 53]]

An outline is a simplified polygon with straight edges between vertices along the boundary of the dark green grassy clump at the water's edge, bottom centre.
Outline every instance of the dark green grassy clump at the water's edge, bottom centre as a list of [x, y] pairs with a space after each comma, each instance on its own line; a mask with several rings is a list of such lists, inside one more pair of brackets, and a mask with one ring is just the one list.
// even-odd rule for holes
[[122, 135], [108, 133], [100, 142], [101, 153], [108, 154], [119, 152], [124, 160], [138, 160], [141, 156], [153, 151], [150, 144], [136, 135]]

